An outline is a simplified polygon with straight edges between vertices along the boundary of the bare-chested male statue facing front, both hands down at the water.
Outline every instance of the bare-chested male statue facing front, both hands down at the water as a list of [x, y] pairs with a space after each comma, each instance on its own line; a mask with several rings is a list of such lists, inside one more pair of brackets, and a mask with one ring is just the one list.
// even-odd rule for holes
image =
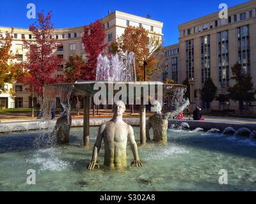
[[135, 142], [132, 126], [129, 126], [123, 121], [123, 113], [125, 105], [122, 101], [115, 103], [113, 108], [114, 116], [109, 122], [102, 124], [99, 128], [96, 143], [93, 147], [92, 161], [88, 164], [88, 170], [93, 170], [97, 164], [98, 154], [104, 140], [105, 156], [104, 165], [111, 168], [125, 168], [126, 162], [126, 147], [129, 140], [131, 149], [134, 155], [134, 161], [131, 166], [141, 167], [140, 158], [138, 155], [138, 147]]

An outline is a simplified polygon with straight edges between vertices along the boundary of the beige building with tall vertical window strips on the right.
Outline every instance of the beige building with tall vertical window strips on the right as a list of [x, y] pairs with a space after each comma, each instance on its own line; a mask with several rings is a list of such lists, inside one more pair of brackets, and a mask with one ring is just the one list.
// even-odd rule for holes
[[[232, 66], [239, 62], [250, 73], [256, 87], [256, 1], [228, 8], [228, 18], [220, 19], [219, 12], [179, 25], [179, 45], [165, 47], [168, 78], [181, 84], [186, 78], [193, 79], [193, 89], [202, 89], [207, 78], [218, 87], [218, 94], [225, 94], [233, 85]], [[173, 50], [178, 50], [179, 54]], [[175, 63], [178, 58], [178, 65]], [[177, 72], [175, 71], [177, 68]], [[173, 71], [174, 70], [174, 71]], [[163, 78], [164, 78], [163, 77]], [[192, 99], [193, 108], [205, 104], [200, 94]], [[239, 112], [239, 103], [225, 105], [213, 101], [212, 110], [230, 109]], [[243, 104], [244, 112], [256, 113], [256, 103]]]

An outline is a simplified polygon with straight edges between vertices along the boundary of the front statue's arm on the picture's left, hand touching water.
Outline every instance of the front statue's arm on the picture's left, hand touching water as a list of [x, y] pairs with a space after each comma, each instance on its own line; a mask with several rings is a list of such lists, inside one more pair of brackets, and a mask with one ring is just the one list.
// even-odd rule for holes
[[104, 131], [104, 129], [105, 129], [105, 125], [103, 124], [99, 128], [96, 143], [93, 147], [92, 161], [90, 162], [90, 164], [88, 164], [88, 167], [87, 167], [88, 170], [93, 170], [95, 168], [95, 166], [97, 166], [99, 168], [99, 164], [97, 164], [97, 159], [98, 159], [98, 155], [99, 155], [99, 152], [100, 152], [100, 147], [101, 147], [102, 140], [103, 140], [103, 131]]

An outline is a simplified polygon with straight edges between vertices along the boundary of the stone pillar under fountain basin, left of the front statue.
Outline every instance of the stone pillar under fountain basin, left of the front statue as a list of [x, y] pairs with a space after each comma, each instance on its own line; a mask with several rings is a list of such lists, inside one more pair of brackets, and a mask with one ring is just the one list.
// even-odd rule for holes
[[84, 146], [90, 143], [90, 97], [84, 97]]

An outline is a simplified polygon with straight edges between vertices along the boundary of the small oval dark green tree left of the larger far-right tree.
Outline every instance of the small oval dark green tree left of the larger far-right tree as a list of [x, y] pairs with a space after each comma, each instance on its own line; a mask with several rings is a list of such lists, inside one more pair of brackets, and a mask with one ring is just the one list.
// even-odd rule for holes
[[210, 104], [216, 98], [217, 87], [211, 78], [207, 78], [204, 87], [200, 90], [202, 101], [207, 103], [207, 111], [209, 112]]

